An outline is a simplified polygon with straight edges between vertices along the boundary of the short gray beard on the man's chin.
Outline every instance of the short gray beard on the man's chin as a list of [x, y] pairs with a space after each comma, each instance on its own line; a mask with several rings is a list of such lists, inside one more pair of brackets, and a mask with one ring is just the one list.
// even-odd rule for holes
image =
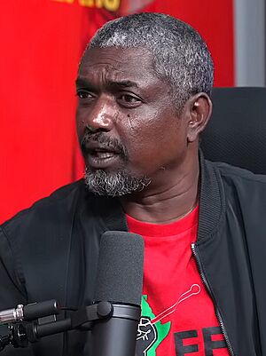
[[85, 170], [85, 183], [90, 192], [98, 195], [121, 196], [142, 191], [151, 183], [151, 178], [134, 177], [125, 170]]

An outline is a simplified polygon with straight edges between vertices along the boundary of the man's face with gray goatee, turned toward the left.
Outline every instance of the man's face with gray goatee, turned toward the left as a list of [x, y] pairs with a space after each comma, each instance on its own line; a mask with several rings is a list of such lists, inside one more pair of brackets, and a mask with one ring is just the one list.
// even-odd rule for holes
[[92, 191], [129, 194], [176, 174], [186, 151], [186, 124], [148, 51], [90, 49], [76, 87], [77, 133]]

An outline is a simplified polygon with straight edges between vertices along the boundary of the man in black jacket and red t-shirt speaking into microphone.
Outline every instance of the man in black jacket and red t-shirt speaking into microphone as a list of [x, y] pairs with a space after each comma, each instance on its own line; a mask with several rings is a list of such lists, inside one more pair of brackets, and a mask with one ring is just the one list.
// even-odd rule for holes
[[[85, 184], [2, 225], [2, 310], [89, 305], [102, 233], [129, 230], [145, 239], [137, 355], [266, 355], [266, 178], [199, 155], [212, 84], [207, 46], [180, 20], [143, 13], [98, 31], [76, 81]], [[70, 332], [32, 349], [89, 348]]]

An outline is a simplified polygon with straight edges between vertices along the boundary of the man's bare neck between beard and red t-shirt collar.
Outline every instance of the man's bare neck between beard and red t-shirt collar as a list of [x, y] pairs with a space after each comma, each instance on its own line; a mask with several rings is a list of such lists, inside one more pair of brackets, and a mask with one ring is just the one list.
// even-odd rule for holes
[[121, 197], [124, 211], [132, 218], [153, 224], [169, 224], [184, 218], [198, 202], [198, 158], [194, 163], [178, 174], [165, 171], [164, 177], [156, 179], [143, 192]]

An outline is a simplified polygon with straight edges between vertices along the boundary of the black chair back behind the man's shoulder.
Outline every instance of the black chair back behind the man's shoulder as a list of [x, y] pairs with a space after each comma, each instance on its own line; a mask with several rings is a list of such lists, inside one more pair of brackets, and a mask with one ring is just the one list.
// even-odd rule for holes
[[210, 161], [266, 174], [266, 88], [215, 88], [200, 147]]

